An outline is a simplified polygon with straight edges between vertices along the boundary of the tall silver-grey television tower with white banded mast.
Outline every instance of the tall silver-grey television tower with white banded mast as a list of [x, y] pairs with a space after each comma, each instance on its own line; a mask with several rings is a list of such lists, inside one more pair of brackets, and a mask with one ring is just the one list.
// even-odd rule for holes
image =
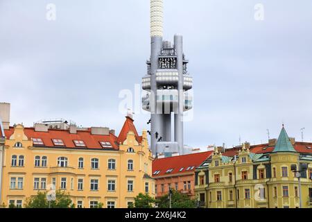
[[187, 92], [193, 86], [193, 78], [187, 71], [182, 35], [176, 34], [173, 44], [163, 40], [163, 0], [150, 0], [150, 38], [150, 60], [142, 79], [142, 88], [146, 90], [142, 107], [151, 113], [151, 150], [154, 155], [183, 155], [183, 112], [193, 108], [193, 98]]

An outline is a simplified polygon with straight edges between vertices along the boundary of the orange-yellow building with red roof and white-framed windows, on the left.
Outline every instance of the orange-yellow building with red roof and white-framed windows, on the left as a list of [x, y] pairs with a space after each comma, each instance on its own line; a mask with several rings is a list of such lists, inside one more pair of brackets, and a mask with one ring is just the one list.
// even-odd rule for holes
[[51, 187], [69, 192], [76, 207], [125, 208], [139, 193], [155, 196], [147, 133], [139, 136], [131, 117], [118, 137], [108, 128], [67, 122], [17, 125], [4, 133], [0, 203], [6, 206], [22, 207]]

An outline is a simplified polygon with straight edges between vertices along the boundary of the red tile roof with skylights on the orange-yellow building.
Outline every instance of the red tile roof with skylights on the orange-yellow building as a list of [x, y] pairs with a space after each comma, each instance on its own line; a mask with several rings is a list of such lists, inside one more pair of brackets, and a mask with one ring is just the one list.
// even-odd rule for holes
[[[114, 150], [119, 149], [119, 142], [123, 142], [127, 136], [127, 133], [132, 130], [138, 142], [141, 142], [141, 137], [137, 134], [137, 130], [135, 125], [133, 124], [133, 120], [129, 117], [126, 117], [125, 123], [123, 124], [123, 128], [121, 129], [121, 133], [119, 137], [116, 137], [112, 133], [109, 135], [92, 135], [91, 128], [88, 130], [77, 130], [76, 134], [69, 133], [69, 130], [57, 130], [57, 129], [49, 129], [48, 132], [36, 132], [35, 128], [24, 128], [24, 133], [28, 139], [42, 139], [44, 142], [44, 146], [47, 147], [55, 147], [52, 142], [52, 139], [62, 139], [66, 148], [79, 148], [75, 146], [73, 140], [82, 140], [86, 148], [98, 148], [103, 149], [100, 142], [110, 142], [112, 144]], [[5, 130], [5, 134], [7, 138], [14, 133], [14, 128], [10, 127], [9, 130]], [[34, 145], [34, 146], [42, 146], [42, 145]], [[80, 147], [81, 148], [81, 147]], [[84, 147], [83, 147], [84, 148]], [[81, 148], [81, 149], [83, 149]]]

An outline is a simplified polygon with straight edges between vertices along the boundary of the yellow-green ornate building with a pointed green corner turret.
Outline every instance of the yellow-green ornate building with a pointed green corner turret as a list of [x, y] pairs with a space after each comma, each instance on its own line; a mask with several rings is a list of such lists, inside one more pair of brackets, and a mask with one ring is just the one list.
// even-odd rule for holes
[[211, 159], [196, 169], [196, 198], [208, 208], [312, 208], [312, 144], [295, 142], [284, 127], [279, 139], [240, 148], [216, 148]]

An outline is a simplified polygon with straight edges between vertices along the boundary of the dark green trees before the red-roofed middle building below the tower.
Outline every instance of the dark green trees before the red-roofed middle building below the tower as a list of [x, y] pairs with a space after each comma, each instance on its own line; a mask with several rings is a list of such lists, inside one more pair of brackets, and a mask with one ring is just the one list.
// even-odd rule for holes
[[[168, 194], [162, 196], [157, 200], [159, 208], [169, 208]], [[172, 190], [171, 194], [171, 207], [172, 208], [196, 208], [196, 200], [192, 200], [187, 194], [181, 194], [178, 191]]]

